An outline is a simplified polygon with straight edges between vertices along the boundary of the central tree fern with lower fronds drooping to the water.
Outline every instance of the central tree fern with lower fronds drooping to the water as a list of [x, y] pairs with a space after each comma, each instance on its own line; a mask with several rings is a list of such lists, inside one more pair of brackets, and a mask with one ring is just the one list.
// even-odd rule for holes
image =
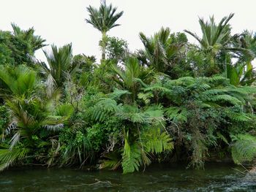
[[123, 131], [120, 132], [125, 138], [124, 146], [118, 149], [119, 154], [122, 151], [119, 155], [121, 160], [119, 158], [114, 161], [116, 158], [112, 158], [110, 153], [105, 155], [105, 158], [108, 159], [102, 161], [101, 168], [110, 166], [111, 169], [116, 169], [121, 165], [124, 173], [138, 171], [140, 166], [151, 163], [148, 157], [149, 153], [157, 154], [173, 149], [170, 136], [162, 133], [160, 128], [154, 127], [154, 125], [162, 124], [163, 126], [164, 124], [162, 123], [161, 107], [151, 106], [142, 110], [136, 104], [118, 104], [115, 100], [107, 98], [100, 99], [92, 111], [93, 120], [105, 122], [108, 117], [116, 116], [124, 126]]

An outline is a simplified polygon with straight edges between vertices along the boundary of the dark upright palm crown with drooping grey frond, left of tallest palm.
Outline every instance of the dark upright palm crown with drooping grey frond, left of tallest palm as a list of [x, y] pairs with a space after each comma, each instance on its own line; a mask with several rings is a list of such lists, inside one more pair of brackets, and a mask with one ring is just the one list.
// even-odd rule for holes
[[48, 61], [48, 66], [42, 63], [44, 72], [48, 74], [48, 82], [54, 83], [57, 88], [63, 88], [67, 74], [74, 72], [76, 64], [72, 64], [72, 45], [64, 45], [63, 47], [51, 46], [51, 52], [44, 51]]

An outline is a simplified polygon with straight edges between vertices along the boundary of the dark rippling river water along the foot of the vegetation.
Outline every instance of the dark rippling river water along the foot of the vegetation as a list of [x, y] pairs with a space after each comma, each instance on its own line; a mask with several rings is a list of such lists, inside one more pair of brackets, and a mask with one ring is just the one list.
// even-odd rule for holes
[[145, 172], [23, 168], [0, 173], [0, 191], [256, 191], [256, 180], [230, 164], [205, 170], [181, 165], [154, 165]]

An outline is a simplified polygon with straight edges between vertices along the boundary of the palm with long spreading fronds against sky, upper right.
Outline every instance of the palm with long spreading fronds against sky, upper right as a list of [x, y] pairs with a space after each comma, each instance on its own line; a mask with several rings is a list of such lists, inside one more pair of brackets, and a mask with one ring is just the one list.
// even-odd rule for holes
[[[193, 51], [197, 58], [193, 56], [197, 62], [199, 60], [200, 67], [203, 67], [203, 75], [211, 76], [225, 72], [227, 58], [230, 58], [230, 52], [244, 50], [240, 47], [233, 47], [231, 36], [230, 20], [234, 14], [222, 18], [218, 24], [215, 23], [214, 16], [210, 17], [210, 21], [205, 21], [203, 18], [199, 19], [200, 28], [203, 37], [198, 37], [197, 34], [185, 30], [192, 35], [199, 43], [199, 51]], [[200, 58], [198, 58], [200, 56]], [[203, 62], [202, 62], [203, 61]]]

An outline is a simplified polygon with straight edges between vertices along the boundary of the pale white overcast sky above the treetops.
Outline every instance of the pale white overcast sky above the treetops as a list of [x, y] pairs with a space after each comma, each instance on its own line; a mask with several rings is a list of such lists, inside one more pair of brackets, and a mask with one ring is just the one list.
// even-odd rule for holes
[[[47, 40], [50, 45], [66, 45], [72, 42], [73, 55], [84, 53], [100, 58], [99, 39], [101, 34], [85, 19], [89, 18], [86, 7], [99, 7], [99, 0], [0, 0], [0, 30], [11, 31], [10, 23], [20, 28], [34, 27], [35, 34]], [[124, 15], [108, 34], [127, 40], [130, 50], [137, 50], [143, 45], [139, 32], [151, 36], [159, 29], [169, 27], [178, 32], [188, 29], [200, 34], [198, 18], [208, 19], [214, 15], [217, 22], [231, 12], [235, 16], [230, 20], [232, 33], [248, 29], [256, 31], [255, 0], [107, 0], [123, 10]], [[188, 35], [189, 37], [189, 35]], [[189, 42], [195, 39], [189, 37]], [[36, 57], [45, 61], [42, 50]]]

